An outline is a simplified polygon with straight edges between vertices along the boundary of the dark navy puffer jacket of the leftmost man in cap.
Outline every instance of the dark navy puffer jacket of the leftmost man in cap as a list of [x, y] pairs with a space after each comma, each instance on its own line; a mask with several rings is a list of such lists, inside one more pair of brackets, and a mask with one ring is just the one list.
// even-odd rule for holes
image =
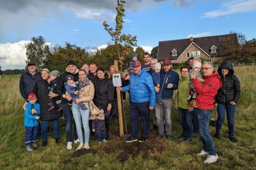
[[35, 86], [36, 81], [42, 80], [41, 73], [36, 71], [34, 75], [29, 73], [23, 73], [20, 77], [20, 95], [25, 99], [28, 100], [28, 95], [32, 93], [33, 88]]

